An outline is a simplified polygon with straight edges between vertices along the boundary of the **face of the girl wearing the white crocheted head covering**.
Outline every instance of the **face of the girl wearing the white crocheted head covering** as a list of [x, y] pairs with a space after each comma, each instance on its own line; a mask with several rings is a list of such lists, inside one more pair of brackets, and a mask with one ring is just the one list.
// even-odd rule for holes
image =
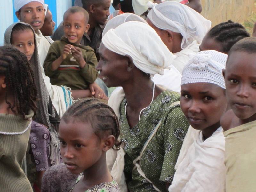
[[194, 129], [211, 131], [220, 127], [220, 118], [226, 111], [225, 90], [212, 83], [184, 84], [180, 105]]

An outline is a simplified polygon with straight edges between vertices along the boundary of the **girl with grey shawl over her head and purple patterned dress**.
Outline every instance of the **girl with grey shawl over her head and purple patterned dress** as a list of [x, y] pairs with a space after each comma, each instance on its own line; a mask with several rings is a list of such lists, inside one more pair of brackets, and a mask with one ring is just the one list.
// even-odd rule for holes
[[[38, 93], [36, 117], [31, 124], [30, 145], [26, 153], [27, 176], [34, 189], [40, 188], [42, 176], [53, 162], [59, 160], [58, 124], [60, 117], [52, 105], [44, 84], [33, 28], [27, 23], [14, 23], [6, 29], [4, 43], [23, 52], [34, 71]], [[50, 132], [50, 133], [49, 133]], [[51, 146], [51, 147], [50, 147]], [[50, 149], [51, 150], [50, 150]], [[50, 153], [49, 153], [50, 150]], [[49, 157], [49, 158], [48, 158]]]

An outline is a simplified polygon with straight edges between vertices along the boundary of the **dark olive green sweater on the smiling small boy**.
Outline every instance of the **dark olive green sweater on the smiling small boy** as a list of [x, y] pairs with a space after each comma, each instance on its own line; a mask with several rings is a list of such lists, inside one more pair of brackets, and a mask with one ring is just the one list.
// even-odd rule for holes
[[[59, 68], [56, 71], [52, 71], [52, 63], [61, 56], [66, 44], [71, 44], [81, 49], [86, 62], [85, 67], [80, 69], [79, 63], [72, 54], [69, 54]], [[53, 85], [66, 85], [73, 90], [88, 89], [89, 84], [93, 83], [98, 76], [95, 69], [97, 63], [97, 58], [91, 47], [72, 44], [67, 38], [62, 37], [60, 41], [55, 41], [51, 44], [44, 61], [44, 71], [45, 75], [50, 77]]]

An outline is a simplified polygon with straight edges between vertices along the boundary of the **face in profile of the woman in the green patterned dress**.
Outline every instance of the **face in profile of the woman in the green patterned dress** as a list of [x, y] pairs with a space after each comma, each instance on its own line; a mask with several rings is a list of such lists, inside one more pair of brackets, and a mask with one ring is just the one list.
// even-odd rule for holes
[[107, 87], [122, 86], [130, 79], [128, 71], [130, 60], [128, 57], [110, 51], [103, 43], [100, 44], [99, 55], [100, 61], [96, 69]]

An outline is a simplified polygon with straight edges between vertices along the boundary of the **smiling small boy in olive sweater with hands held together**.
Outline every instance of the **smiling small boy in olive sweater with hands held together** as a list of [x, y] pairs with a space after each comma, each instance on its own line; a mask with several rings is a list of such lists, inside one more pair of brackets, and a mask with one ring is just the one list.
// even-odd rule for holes
[[65, 37], [55, 41], [44, 62], [45, 75], [54, 85], [88, 89], [97, 78], [97, 58], [89, 46], [79, 45], [89, 30], [89, 14], [82, 7], [71, 7], [63, 17]]

